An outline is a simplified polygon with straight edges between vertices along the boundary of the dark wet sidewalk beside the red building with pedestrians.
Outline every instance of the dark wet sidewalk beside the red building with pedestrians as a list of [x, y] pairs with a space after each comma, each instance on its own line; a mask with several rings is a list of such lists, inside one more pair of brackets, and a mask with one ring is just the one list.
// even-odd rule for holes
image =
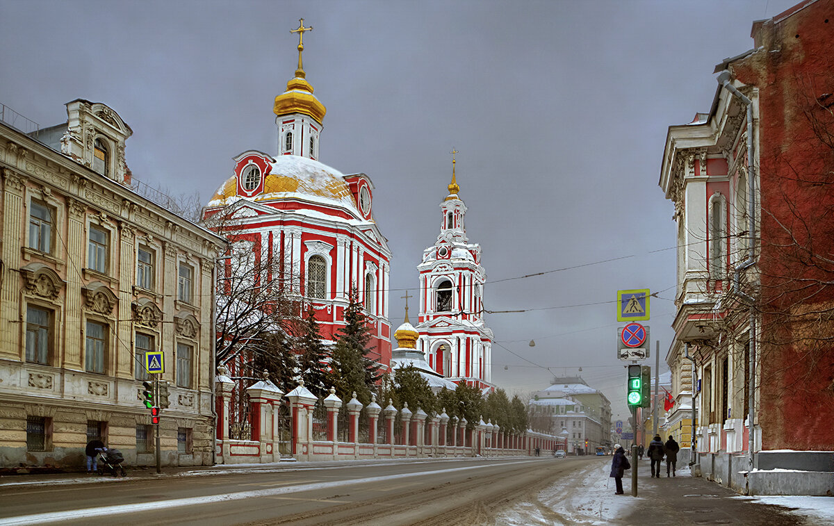
[[[806, 520], [786, 508], [756, 503], [751, 498], [739, 498], [738, 493], [705, 478], [691, 477], [688, 466], [677, 470], [677, 477], [666, 478], [666, 463], [661, 478], [651, 478], [648, 458], [639, 461], [638, 499], [629, 512], [618, 520], [621, 524], [749, 524], [768, 526], [796, 526], [823, 524]], [[626, 472], [631, 474], [630, 472]], [[623, 478], [625, 495], [631, 498], [631, 478]]]

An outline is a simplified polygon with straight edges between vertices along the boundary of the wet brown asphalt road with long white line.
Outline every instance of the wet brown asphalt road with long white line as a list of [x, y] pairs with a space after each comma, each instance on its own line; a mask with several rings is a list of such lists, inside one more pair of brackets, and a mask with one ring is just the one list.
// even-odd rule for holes
[[476, 524], [595, 457], [424, 459], [0, 487], [6, 524]]

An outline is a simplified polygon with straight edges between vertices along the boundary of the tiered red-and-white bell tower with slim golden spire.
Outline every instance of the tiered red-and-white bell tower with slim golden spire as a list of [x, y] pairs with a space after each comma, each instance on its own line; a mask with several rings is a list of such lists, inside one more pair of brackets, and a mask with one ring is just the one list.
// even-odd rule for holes
[[449, 195], [440, 203], [440, 234], [417, 266], [417, 348], [433, 370], [452, 382], [492, 390], [492, 331], [484, 322], [483, 303], [486, 273], [480, 245], [466, 237], [466, 205], [458, 197], [455, 163]]

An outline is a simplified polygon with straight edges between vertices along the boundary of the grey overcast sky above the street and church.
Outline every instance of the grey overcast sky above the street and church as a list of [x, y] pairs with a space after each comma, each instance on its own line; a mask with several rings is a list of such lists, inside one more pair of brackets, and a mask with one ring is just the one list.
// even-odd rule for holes
[[488, 315], [495, 383], [529, 393], [581, 367], [625, 415], [616, 291], [659, 292], [647, 324], [661, 363], [671, 343], [666, 129], [709, 111], [716, 63], [797, 2], [0, 0], [0, 103], [42, 127], [75, 98], [106, 103], [133, 128], [134, 177], [204, 202], [235, 155], [277, 153], [272, 106], [304, 17], [304, 69], [328, 108], [320, 160], [374, 181], [394, 328], [454, 147], [486, 308], [538, 309]]

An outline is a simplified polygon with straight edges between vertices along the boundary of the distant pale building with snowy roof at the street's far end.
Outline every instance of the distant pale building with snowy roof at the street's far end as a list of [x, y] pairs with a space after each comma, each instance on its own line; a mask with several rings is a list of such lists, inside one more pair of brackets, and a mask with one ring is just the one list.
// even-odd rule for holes
[[593, 453], [610, 448], [611, 408], [608, 398], [580, 377], [554, 378], [529, 402], [530, 418], [542, 431], [567, 431], [568, 453]]

